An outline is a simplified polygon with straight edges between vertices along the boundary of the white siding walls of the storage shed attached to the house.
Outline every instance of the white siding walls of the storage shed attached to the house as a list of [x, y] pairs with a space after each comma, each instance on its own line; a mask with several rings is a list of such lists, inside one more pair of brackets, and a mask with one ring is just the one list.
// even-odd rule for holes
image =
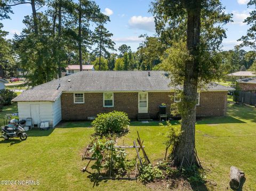
[[60, 97], [55, 102], [18, 102], [20, 120], [33, 118], [34, 113], [31, 113], [30, 111], [31, 105], [37, 105], [39, 107], [40, 122], [50, 121], [50, 127], [55, 127], [61, 121]]

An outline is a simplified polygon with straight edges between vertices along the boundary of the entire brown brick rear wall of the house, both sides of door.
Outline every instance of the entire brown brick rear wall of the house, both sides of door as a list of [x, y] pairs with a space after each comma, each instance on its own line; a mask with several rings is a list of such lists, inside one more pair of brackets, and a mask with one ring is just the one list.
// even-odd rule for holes
[[[167, 112], [173, 103], [174, 93], [148, 93], [148, 113], [151, 118], [157, 117], [158, 106], [165, 103]], [[222, 116], [226, 114], [227, 92], [202, 92], [198, 116]], [[138, 93], [114, 93], [114, 107], [103, 107], [103, 93], [85, 93], [83, 104], [74, 104], [73, 93], [61, 95], [61, 114], [63, 120], [85, 120], [98, 113], [110, 111], [126, 112], [130, 119], [138, 114]]]

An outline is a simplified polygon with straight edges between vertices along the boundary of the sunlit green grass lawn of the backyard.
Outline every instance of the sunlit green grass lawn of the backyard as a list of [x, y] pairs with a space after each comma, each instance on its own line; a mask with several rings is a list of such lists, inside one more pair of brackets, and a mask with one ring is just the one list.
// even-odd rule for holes
[[[4, 113], [17, 110], [4, 108]], [[229, 190], [229, 168], [236, 165], [245, 172], [243, 190], [256, 190], [256, 109], [229, 104], [228, 116], [205, 118], [196, 125], [196, 147], [206, 170], [206, 178], [217, 185], [206, 184], [209, 190]], [[158, 122], [132, 122], [130, 132], [118, 144], [132, 145], [137, 132], [154, 163], [164, 157], [166, 128]], [[0, 190], [149, 190], [139, 181], [108, 180], [93, 182], [82, 173], [85, 161], [81, 154], [93, 129], [90, 122], [61, 123], [48, 131], [28, 131], [28, 139], [0, 140], [0, 180], [39, 180], [39, 185], [0, 185]], [[129, 157], [134, 151], [129, 151]]]

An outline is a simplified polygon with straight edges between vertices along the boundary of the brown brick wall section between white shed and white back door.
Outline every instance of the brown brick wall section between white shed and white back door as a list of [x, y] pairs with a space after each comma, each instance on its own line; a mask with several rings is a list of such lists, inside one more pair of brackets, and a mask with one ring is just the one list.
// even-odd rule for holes
[[114, 107], [103, 107], [103, 93], [85, 93], [83, 104], [74, 104], [73, 93], [61, 95], [61, 115], [63, 120], [85, 120], [98, 113], [124, 111], [129, 118], [138, 114], [138, 93], [114, 93]]

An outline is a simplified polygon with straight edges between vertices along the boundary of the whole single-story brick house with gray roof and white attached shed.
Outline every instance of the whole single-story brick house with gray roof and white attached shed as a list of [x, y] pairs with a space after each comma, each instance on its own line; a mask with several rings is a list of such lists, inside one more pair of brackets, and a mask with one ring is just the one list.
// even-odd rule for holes
[[[86, 120], [99, 113], [126, 112], [130, 119], [140, 113], [157, 118], [159, 105], [167, 114], [179, 102], [164, 71], [81, 71], [26, 90], [14, 98], [20, 119], [33, 118], [35, 124], [61, 120]], [[197, 115], [223, 116], [227, 111], [228, 87], [210, 84], [197, 94]]]

